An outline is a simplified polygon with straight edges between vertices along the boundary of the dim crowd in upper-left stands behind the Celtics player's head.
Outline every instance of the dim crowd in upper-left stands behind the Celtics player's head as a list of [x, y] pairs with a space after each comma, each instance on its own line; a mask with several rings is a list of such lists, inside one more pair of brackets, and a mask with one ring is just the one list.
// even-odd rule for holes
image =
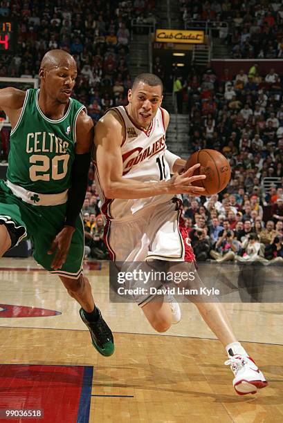
[[131, 19], [145, 10], [154, 12], [154, 0], [1, 1], [0, 17], [18, 22], [15, 55], [0, 56], [1, 77], [37, 77], [47, 50], [69, 51], [77, 63], [74, 97], [97, 121], [110, 106], [127, 104]]

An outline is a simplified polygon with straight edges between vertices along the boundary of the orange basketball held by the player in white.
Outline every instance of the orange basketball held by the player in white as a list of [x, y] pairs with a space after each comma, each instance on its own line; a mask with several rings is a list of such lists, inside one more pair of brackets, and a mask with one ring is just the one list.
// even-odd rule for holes
[[223, 154], [210, 149], [196, 151], [188, 158], [185, 170], [197, 163], [200, 163], [201, 166], [194, 171], [194, 175], [206, 175], [206, 179], [196, 180], [192, 182], [192, 185], [206, 189], [201, 193], [202, 196], [212, 196], [227, 187], [231, 169]]

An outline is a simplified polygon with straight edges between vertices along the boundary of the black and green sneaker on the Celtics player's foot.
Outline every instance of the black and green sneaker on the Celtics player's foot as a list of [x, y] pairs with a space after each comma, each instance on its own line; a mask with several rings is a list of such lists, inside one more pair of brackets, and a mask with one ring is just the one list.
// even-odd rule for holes
[[98, 350], [98, 353], [104, 355], [104, 357], [109, 357], [114, 352], [114, 339], [111, 332], [111, 329], [107, 326], [107, 323], [104, 321], [102, 314], [98, 308], [99, 319], [98, 321], [88, 321], [84, 316], [84, 310], [80, 309], [80, 317], [82, 321], [89, 329], [91, 333], [91, 341]]

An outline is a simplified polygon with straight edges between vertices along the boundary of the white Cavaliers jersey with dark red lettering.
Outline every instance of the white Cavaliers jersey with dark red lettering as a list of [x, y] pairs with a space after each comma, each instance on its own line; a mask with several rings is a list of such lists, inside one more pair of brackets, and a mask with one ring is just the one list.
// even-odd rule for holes
[[[147, 130], [135, 126], [124, 106], [113, 107], [110, 110], [115, 110], [124, 123], [125, 136], [121, 145], [122, 177], [145, 183], [169, 180], [171, 176], [169, 165], [165, 160], [166, 144], [162, 109], [158, 109], [152, 124]], [[136, 215], [137, 212], [147, 207], [166, 203], [173, 197], [172, 194], [162, 194], [131, 200], [105, 198], [99, 183], [96, 167], [95, 183], [102, 201], [102, 214], [108, 220], [128, 221], [138, 217]]]

